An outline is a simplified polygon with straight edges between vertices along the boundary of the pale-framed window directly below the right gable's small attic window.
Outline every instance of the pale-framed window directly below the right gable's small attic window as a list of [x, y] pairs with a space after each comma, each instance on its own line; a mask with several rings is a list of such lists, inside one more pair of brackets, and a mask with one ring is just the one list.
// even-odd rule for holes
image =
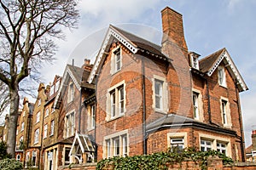
[[232, 127], [229, 99], [220, 97], [220, 112], [224, 127]]

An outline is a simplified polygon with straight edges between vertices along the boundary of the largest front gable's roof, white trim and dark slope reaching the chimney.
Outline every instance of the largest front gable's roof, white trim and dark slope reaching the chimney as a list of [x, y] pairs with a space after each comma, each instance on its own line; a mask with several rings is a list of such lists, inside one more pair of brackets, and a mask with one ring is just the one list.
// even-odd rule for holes
[[153, 42], [148, 42], [147, 40], [137, 37], [136, 35], [131, 34], [130, 32], [119, 29], [116, 26], [109, 26], [107, 34], [102, 42], [102, 47], [100, 48], [99, 53], [96, 56], [95, 65], [90, 72], [90, 76], [87, 82], [91, 83], [96, 75], [98, 69], [102, 66], [105, 57], [107, 56], [108, 49], [110, 48], [113, 39], [117, 39], [122, 43], [126, 48], [128, 48], [132, 54], [137, 54], [138, 51], [146, 52], [152, 56], [170, 61], [172, 59], [166, 57], [166, 55], [161, 53], [161, 47], [154, 44]]

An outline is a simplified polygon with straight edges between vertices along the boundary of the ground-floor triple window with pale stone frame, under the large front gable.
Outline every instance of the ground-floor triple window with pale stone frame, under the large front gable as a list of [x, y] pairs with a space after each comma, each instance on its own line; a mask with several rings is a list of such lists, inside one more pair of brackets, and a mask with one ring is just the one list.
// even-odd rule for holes
[[129, 156], [129, 133], [123, 130], [104, 137], [103, 156]]

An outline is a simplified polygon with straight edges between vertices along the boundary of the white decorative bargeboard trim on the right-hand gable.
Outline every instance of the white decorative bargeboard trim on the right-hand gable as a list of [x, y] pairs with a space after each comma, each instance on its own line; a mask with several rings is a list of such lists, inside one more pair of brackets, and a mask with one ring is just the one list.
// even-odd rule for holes
[[225, 67], [228, 69], [228, 71], [230, 71], [231, 77], [234, 80], [236, 80], [236, 83], [239, 86], [239, 90], [240, 91], [246, 91], [248, 89], [247, 85], [244, 82], [244, 80], [242, 79], [239, 71], [236, 68], [236, 65], [234, 64], [233, 60], [230, 57], [230, 54], [228, 53], [228, 51], [226, 49], [224, 49], [224, 52], [219, 55], [218, 59], [216, 59], [216, 61], [214, 62], [214, 64], [210, 68], [210, 70], [207, 71], [207, 76], [211, 77], [212, 73], [218, 68], [218, 65], [223, 60], [225, 61]]

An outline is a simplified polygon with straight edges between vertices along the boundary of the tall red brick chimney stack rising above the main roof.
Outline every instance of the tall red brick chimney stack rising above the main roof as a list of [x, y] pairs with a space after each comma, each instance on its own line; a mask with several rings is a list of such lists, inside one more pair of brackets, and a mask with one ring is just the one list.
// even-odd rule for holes
[[164, 8], [161, 14], [163, 29], [162, 52], [166, 54], [166, 42], [170, 42], [177, 45], [187, 58], [188, 47], [183, 32], [183, 15], [169, 7]]

